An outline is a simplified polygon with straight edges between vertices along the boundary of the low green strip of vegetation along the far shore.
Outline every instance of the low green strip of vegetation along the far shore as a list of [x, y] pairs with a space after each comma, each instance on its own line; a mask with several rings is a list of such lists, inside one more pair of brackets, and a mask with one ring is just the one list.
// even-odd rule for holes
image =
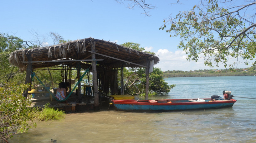
[[256, 75], [256, 67], [251, 66], [245, 69], [199, 69], [190, 71], [167, 70], [163, 72], [166, 78], [175, 77], [211, 77], [211, 76], [253, 76]]

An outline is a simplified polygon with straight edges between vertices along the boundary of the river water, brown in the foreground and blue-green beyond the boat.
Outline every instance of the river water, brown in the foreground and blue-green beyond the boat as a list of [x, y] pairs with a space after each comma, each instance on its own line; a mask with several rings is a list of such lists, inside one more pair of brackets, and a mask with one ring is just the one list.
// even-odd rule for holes
[[[256, 98], [256, 76], [168, 78], [170, 93], [150, 99], [211, 98], [232, 95]], [[136, 97], [138, 99], [140, 97]], [[37, 122], [10, 143], [87, 142], [256, 142], [256, 99], [233, 98], [230, 108], [181, 112], [131, 113], [109, 110], [67, 114], [61, 121]]]

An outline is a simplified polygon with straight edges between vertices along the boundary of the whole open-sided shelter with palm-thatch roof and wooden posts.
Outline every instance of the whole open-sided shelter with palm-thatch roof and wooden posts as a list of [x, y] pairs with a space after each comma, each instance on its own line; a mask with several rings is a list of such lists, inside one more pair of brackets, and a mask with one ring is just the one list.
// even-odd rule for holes
[[[63, 81], [69, 83], [72, 82], [71, 69], [77, 70], [78, 79], [81, 78], [81, 70], [90, 70], [93, 77], [94, 107], [97, 108], [99, 107], [99, 90], [102, 93], [109, 93], [110, 90], [112, 95], [118, 93], [117, 69], [123, 71], [122, 69], [125, 67], [144, 67], [146, 69], [147, 99], [149, 70], [153, 64], [159, 62], [159, 58], [110, 41], [90, 37], [47, 47], [17, 50], [10, 54], [9, 62], [17, 66], [20, 71], [26, 72], [25, 83], [31, 83], [31, 74], [34, 69], [63, 66], [65, 72], [69, 70], [69, 75], [63, 74], [66, 75], [63, 76]], [[120, 94], [123, 94], [123, 72], [120, 83]], [[78, 83], [77, 92], [78, 98], [80, 98], [81, 83]], [[27, 94], [28, 89], [24, 92], [24, 96], [27, 97]]]

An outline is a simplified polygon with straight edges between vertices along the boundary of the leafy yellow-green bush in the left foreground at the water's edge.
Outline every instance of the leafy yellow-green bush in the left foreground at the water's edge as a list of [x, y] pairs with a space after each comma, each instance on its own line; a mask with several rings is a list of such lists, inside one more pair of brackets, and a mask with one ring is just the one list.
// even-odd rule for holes
[[36, 127], [31, 101], [22, 96], [28, 85], [6, 84], [0, 88], [0, 138], [7, 141], [14, 134]]

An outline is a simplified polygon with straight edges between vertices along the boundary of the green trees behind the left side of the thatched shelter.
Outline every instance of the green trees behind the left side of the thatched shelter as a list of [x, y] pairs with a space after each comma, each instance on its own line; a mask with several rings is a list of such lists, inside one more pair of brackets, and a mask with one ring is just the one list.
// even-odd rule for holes
[[[0, 32], [0, 76], [2, 77], [0, 79], [0, 87], [4, 86], [6, 83], [13, 82], [16, 84], [24, 83], [25, 79], [25, 74], [26, 73], [20, 73], [18, 70], [18, 67], [12, 66], [9, 61], [8, 57], [11, 52], [14, 50], [20, 50], [20, 49], [28, 49], [28, 48], [37, 48], [40, 46], [43, 46], [45, 38], [40, 38], [40, 37], [45, 37], [40, 36], [38, 33], [35, 31], [31, 31], [31, 34], [35, 36], [34, 41], [23, 41], [22, 39], [16, 37], [16, 36], [10, 36], [8, 34], [4, 34]], [[59, 44], [61, 42], [67, 42], [64, 40], [62, 36], [60, 36], [58, 33], [50, 32], [49, 35], [54, 44]], [[48, 70], [47, 72], [45, 72]], [[35, 70], [34, 72], [36, 73], [43, 73], [38, 74], [40, 79], [45, 79], [47, 82], [46, 83], [52, 83], [52, 86], [58, 85], [58, 83], [61, 81], [61, 75], [59, 71], [51, 71], [49, 69], [38, 69]], [[54, 80], [57, 79], [57, 80]], [[51, 81], [51, 82], [50, 82]], [[36, 83], [36, 82], [35, 82]]]

